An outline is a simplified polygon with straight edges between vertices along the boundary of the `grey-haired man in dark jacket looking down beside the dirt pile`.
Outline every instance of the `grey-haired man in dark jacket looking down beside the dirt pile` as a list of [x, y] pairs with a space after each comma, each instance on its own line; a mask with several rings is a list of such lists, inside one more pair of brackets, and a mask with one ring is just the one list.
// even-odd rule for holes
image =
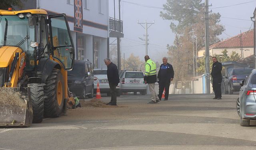
[[111, 101], [107, 105], [116, 106], [116, 86], [120, 82], [118, 69], [117, 66], [113, 64], [109, 58], [104, 59], [104, 62], [108, 66], [107, 76], [111, 94]]

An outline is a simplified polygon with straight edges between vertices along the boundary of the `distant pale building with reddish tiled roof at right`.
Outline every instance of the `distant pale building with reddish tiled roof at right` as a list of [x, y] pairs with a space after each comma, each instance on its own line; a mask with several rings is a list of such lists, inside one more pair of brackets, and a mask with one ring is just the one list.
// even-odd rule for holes
[[[254, 32], [253, 30], [249, 30], [249, 31], [243, 32], [242, 36], [241, 34], [238, 34], [237, 36], [228, 38], [226, 40], [223, 40], [221, 42], [211, 45], [209, 48], [210, 56], [222, 55], [222, 51], [224, 49], [227, 50], [228, 55], [230, 55], [232, 51], [238, 53], [240, 56], [242, 56], [241, 54], [243, 54], [243, 58], [253, 55], [253, 51], [254, 51], [254, 42], [253, 42], [254, 33], [253, 32]], [[241, 51], [241, 48], [242, 48], [242, 51]], [[198, 57], [204, 57], [204, 56], [205, 56], [205, 50], [204, 48], [202, 48], [201, 50], [198, 51]]]

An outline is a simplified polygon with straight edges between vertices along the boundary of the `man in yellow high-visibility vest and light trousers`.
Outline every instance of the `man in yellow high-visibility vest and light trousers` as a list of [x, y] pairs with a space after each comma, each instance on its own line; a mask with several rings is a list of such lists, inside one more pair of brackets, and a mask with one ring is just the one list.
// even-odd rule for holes
[[156, 63], [153, 62], [148, 55], [146, 55], [144, 58], [146, 62], [144, 82], [145, 84], [148, 84], [149, 91], [151, 93], [151, 98], [152, 98], [152, 100], [148, 102], [148, 104], [156, 104], [157, 102], [160, 101], [155, 91]]

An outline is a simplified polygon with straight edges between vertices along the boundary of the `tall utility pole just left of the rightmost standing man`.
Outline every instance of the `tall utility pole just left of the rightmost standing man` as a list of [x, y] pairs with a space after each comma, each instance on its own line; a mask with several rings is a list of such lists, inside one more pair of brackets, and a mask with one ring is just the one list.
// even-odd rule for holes
[[205, 76], [206, 93], [210, 94], [210, 56], [209, 56], [209, 6], [205, 0]]

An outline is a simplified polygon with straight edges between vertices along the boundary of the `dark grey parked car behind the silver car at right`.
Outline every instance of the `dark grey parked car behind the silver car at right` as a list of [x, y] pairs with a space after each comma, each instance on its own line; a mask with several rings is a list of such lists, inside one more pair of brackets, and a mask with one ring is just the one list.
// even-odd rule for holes
[[241, 88], [239, 82], [246, 80], [253, 68], [234, 68], [228, 76], [223, 76], [224, 92], [225, 94], [233, 94], [238, 92]]

